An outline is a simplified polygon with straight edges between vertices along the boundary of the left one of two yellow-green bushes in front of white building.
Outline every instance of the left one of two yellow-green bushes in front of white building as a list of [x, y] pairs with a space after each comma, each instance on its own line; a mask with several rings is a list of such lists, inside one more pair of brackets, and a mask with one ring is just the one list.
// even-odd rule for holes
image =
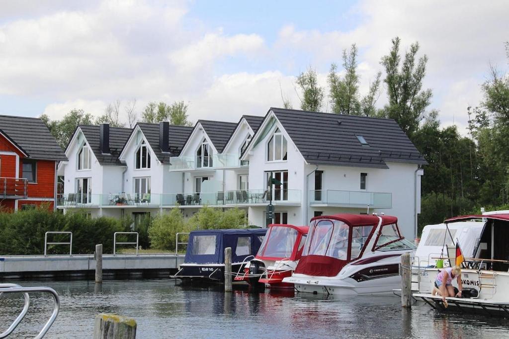
[[173, 208], [167, 214], [159, 214], [148, 228], [152, 248], [175, 250], [175, 237], [178, 232], [189, 232], [181, 211]]

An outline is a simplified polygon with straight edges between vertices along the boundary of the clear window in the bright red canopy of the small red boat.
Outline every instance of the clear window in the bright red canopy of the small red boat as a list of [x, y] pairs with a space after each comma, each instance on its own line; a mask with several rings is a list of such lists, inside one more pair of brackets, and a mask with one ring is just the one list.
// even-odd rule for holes
[[298, 232], [290, 227], [271, 227], [258, 253], [261, 257], [290, 258]]

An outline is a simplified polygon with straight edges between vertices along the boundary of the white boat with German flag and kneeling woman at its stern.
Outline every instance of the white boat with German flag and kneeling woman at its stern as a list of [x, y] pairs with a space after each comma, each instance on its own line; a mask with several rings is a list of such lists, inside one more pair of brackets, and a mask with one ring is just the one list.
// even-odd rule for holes
[[[445, 220], [448, 228], [453, 224], [465, 224], [475, 221], [483, 224], [483, 230], [476, 241], [473, 256], [469, 258], [464, 252], [465, 261], [462, 268], [463, 289], [470, 289], [471, 297], [448, 297], [447, 304], [442, 297], [433, 296], [432, 290], [439, 269], [428, 268], [426, 275], [420, 277], [419, 291], [414, 293], [416, 299], [426, 301], [437, 309], [454, 309], [460, 312], [484, 313], [488, 315], [509, 316], [509, 214], [487, 213], [483, 215], [466, 215]], [[460, 242], [460, 247], [463, 244]], [[445, 258], [455, 262], [456, 258]], [[453, 286], [457, 286], [453, 279]], [[473, 292], [472, 292], [473, 290]], [[448, 307], [446, 307], [448, 306]]]

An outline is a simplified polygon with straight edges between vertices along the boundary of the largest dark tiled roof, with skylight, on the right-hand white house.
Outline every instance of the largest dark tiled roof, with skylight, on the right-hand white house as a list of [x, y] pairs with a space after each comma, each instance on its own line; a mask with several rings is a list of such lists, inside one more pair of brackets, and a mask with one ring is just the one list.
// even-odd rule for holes
[[[271, 108], [308, 163], [387, 168], [386, 161], [426, 164], [397, 122]], [[362, 135], [369, 146], [362, 146]]]

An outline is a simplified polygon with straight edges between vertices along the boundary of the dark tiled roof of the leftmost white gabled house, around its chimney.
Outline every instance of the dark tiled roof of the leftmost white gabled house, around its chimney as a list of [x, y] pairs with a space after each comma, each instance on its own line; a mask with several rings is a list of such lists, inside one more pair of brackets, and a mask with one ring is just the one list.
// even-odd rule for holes
[[120, 127], [110, 127], [109, 128], [109, 152], [110, 154], [101, 154], [101, 150], [99, 149], [99, 135], [100, 135], [100, 126], [90, 126], [90, 125], [79, 125], [79, 128], [83, 132], [83, 135], [87, 139], [94, 155], [97, 158], [97, 161], [101, 165], [124, 165], [119, 160], [119, 155], [122, 153], [124, 149], [124, 145], [131, 135], [132, 129], [130, 128], [120, 128]]

